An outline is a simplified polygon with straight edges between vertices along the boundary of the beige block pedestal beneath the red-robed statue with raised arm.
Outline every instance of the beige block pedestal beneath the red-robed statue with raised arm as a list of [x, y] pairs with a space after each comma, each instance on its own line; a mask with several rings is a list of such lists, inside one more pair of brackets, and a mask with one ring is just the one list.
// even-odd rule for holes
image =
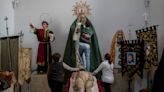
[[33, 73], [31, 75], [30, 92], [51, 92], [48, 86], [47, 74]]

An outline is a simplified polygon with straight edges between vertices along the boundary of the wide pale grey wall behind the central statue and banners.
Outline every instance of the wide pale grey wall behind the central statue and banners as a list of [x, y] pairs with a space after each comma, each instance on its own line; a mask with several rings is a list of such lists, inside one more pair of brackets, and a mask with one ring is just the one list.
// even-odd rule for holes
[[[48, 13], [52, 22], [50, 29], [55, 33], [56, 40], [52, 43], [53, 52], [64, 53], [69, 28], [74, 19], [72, 6], [80, 0], [21, 0], [15, 8], [15, 32], [23, 31], [23, 46], [33, 49], [32, 68], [36, 68], [37, 39], [29, 32], [29, 23], [41, 27], [40, 15]], [[87, 0], [91, 5], [92, 21], [99, 39], [101, 53], [109, 51], [113, 34], [122, 28], [128, 38], [128, 30], [132, 30], [132, 39], [135, 39], [135, 30], [144, 27], [144, 0]], [[161, 56], [164, 47], [164, 1], [151, 2], [151, 23], [158, 24], [158, 47]], [[129, 25], [132, 25], [130, 28]]]

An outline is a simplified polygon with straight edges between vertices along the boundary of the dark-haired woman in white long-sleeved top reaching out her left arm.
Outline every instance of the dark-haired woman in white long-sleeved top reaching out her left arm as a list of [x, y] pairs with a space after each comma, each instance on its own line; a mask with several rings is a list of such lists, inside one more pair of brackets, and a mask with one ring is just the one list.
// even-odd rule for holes
[[110, 92], [110, 86], [114, 82], [113, 76], [113, 63], [110, 59], [110, 54], [105, 54], [105, 60], [99, 65], [99, 67], [92, 73], [96, 75], [99, 71], [102, 71], [102, 84], [105, 92]]

